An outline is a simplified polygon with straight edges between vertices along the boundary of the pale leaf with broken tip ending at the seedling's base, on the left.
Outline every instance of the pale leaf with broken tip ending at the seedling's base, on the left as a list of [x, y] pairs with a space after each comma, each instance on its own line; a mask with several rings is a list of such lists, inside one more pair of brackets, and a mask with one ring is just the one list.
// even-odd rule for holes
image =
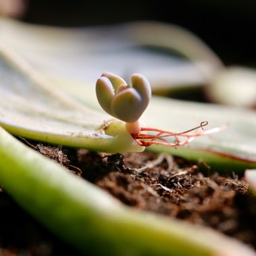
[[1, 44], [0, 95], [0, 125], [15, 135], [106, 152], [143, 151], [124, 123], [105, 125], [112, 117], [55, 90]]

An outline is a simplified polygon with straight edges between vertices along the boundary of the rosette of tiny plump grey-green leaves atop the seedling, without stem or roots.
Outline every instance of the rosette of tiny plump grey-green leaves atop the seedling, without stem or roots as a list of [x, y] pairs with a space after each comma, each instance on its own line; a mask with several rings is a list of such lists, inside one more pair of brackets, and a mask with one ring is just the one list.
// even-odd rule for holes
[[131, 86], [113, 73], [104, 72], [96, 82], [96, 95], [100, 106], [109, 115], [134, 123], [146, 110], [151, 98], [148, 79], [139, 73], [131, 75]]

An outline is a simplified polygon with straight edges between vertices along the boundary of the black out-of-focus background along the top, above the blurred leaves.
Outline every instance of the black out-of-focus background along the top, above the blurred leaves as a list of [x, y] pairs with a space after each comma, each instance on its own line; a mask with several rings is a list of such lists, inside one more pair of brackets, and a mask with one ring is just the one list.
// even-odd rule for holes
[[197, 34], [226, 65], [255, 66], [254, 0], [0, 0], [0, 9], [26, 22], [57, 26], [94, 26], [137, 20], [179, 24]]

